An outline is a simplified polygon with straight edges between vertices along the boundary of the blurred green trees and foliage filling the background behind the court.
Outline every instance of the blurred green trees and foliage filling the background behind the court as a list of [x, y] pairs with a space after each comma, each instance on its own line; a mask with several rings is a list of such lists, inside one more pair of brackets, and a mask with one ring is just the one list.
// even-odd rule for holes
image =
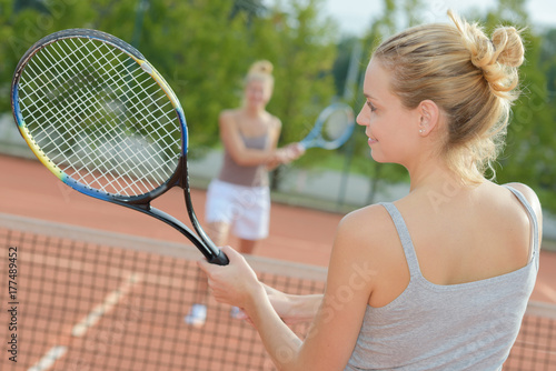
[[[322, 16], [322, 2], [0, 0], [0, 112], [10, 111], [12, 73], [32, 43], [61, 29], [92, 28], [130, 42], [165, 76], [186, 112], [191, 157], [220, 146], [218, 113], [240, 103], [242, 77], [258, 59], [275, 66], [268, 110], [282, 120], [280, 144], [300, 140], [335, 100], [357, 112], [373, 49], [389, 34], [428, 22], [430, 16], [424, 0], [384, 0], [384, 11], [369, 19], [366, 34], [341, 37], [338, 26]], [[523, 94], [514, 106], [496, 176], [500, 183], [528, 183], [545, 209], [556, 211], [556, 28], [529, 24], [526, 0], [498, 0], [487, 13], [471, 10], [463, 16], [480, 21], [487, 31], [500, 23], [524, 29]], [[296, 167], [365, 173], [373, 190], [408, 180], [403, 168], [370, 160], [361, 130], [338, 151], [308, 151]], [[373, 194], [367, 198], [371, 201]]]

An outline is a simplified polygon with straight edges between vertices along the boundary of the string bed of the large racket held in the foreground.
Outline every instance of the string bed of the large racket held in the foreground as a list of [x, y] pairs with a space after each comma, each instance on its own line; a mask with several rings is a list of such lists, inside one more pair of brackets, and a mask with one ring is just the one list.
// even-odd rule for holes
[[176, 169], [181, 133], [158, 83], [102, 42], [54, 44], [37, 53], [20, 81], [38, 147], [70, 177], [108, 193], [142, 194], [163, 183]]

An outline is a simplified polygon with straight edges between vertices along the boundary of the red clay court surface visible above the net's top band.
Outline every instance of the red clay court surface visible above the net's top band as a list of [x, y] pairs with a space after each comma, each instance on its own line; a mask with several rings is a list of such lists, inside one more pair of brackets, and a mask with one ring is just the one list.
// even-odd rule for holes
[[[0, 156], [0, 212], [44, 219], [159, 240], [188, 242], [165, 223], [108, 202], [99, 202], [60, 182], [41, 163]], [[206, 193], [191, 191], [193, 208], [203, 220]], [[183, 197], [172, 190], [155, 207], [187, 221]], [[270, 235], [255, 254], [327, 265], [341, 214], [274, 203]], [[231, 240], [234, 245], [235, 241]], [[200, 257], [200, 255], [199, 255]], [[532, 300], [556, 303], [556, 252], [542, 251], [540, 270]]]

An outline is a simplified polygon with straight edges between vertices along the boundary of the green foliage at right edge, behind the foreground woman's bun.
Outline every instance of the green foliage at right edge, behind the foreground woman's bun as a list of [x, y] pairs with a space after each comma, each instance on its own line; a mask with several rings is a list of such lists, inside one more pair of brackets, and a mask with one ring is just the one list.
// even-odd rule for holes
[[[527, 28], [528, 14], [524, 0], [500, 0], [498, 8], [486, 18], [488, 30], [499, 24], [514, 24], [523, 31], [526, 54], [520, 68], [522, 96], [513, 107], [506, 148], [499, 158], [499, 183], [519, 181], [538, 193], [546, 210], [556, 211], [556, 139], [554, 130], [554, 96], [549, 94], [549, 77], [556, 63], [544, 37]], [[549, 44], [549, 43], [548, 43]]]

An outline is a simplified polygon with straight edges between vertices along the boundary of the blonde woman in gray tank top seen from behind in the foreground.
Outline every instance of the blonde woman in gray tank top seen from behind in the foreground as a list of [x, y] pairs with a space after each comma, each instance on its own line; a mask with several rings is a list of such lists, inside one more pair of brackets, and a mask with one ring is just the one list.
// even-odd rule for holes
[[[373, 159], [410, 190], [346, 215], [322, 294], [265, 287], [231, 248], [200, 261], [215, 298], [244, 309], [280, 370], [500, 370], [538, 269], [542, 210], [525, 184], [486, 170], [517, 99], [523, 41], [451, 12], [384, 41], [357, 117]], [[311, 320], [305, 340], [285, 322]]]

